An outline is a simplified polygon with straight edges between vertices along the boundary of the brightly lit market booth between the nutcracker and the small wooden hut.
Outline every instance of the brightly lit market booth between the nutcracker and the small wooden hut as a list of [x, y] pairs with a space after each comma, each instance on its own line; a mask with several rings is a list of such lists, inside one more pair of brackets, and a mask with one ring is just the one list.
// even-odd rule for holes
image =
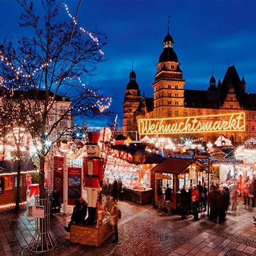
[[139, 204], [152, 201], [151, 169], [164, 158], [148, 152], [146, 144], [117, 144], [110, 149], [105, 170], [105, 184], [111, 195], [115, 180], [122, 181], [123, 198]]

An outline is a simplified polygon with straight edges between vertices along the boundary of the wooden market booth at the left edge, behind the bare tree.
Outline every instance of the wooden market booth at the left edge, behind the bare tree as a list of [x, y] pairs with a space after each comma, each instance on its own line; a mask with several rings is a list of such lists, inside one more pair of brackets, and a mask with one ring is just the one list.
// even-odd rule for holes
[[[0, 161], [0, 208], [9, 207], [15, 203], [17, 188], [18, 160]], [[36, 172], [30, 159], [21, 161], [20, 171], [20, 202], [25, 203], [27, 176]]]

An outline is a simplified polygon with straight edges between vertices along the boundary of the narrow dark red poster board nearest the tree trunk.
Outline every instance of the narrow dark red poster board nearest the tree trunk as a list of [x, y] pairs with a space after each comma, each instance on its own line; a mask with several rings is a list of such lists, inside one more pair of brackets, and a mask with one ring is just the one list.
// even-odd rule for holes
[[64, 157], [53, 157], [53, 188], [57, 189], [61, 202], [63, 203], [63, 181], [64, 181]]

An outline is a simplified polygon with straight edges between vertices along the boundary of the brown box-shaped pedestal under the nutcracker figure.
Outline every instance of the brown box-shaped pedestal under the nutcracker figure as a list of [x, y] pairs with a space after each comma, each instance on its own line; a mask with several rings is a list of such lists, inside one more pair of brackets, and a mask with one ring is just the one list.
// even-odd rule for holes
[[83, 224], [72, 224], [70, 241], [81, 243], [82, 245], [100, 246], [114, 234], [114, 228], [110, 225], [110, 220], [105, 220], [102, 224], [86, 226]]

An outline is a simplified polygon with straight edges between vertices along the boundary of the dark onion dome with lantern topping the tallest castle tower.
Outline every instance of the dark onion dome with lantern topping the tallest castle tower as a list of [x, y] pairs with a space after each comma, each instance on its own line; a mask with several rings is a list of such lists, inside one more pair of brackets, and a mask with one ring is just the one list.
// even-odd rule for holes
[[175, 61], [177, 62], [177, 55], [174, 52], [174, 39], [172, 39], [172, 36], [169, 34], [169, 31], [166, 35], [166, 37], [164, 38], [163, 41], [163, 52], [161, 53], [160, 57], [159, 57], [159, 63], [160, 62], [164, 62], [164, 61]]

